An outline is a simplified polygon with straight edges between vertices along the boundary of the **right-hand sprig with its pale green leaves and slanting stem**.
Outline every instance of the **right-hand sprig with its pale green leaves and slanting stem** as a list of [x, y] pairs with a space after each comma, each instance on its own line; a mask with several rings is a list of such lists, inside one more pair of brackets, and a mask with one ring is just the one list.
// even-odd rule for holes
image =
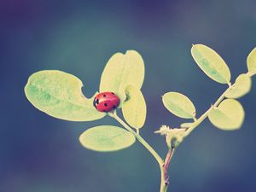
[[[256, 49], [253, 49], [247, 56], [248, 72], [239, 75], [234, 84], [230, 83], [230, 68], [215, 50], [203, 44], [195, 44], [192, 46], [191, 54], [196, 64], [210, 79], [220, 84], [228, 84], [229, 87], [198, 120], [195, 119], [194, 104], [187, 96], [177, 92], [168, 92], [163, 96], [163, 103], [168, 111], [181, 118], [195, 119], [195, 122], [181, 125], [182, 128], [187, 129], [183, 137], [187, 137], [207, 117], [212, 122], [212, 125], [221, 130], [232, 131], [239, 129], [245, 113], [241, 103], [236, 99], [245, 96], [251, 89], [251, 77], [256, 74]], [[180, 141], [182, 140], [180, 139]]]

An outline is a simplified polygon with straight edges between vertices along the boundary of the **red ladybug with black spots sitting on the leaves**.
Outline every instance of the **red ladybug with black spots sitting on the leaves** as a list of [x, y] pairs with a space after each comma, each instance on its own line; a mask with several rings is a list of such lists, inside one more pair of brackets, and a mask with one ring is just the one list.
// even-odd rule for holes
[[110, 112], [119, 106], [119, 97], [113, 92], [102, 92], [96, 95], [93, 105], [100, 112]]

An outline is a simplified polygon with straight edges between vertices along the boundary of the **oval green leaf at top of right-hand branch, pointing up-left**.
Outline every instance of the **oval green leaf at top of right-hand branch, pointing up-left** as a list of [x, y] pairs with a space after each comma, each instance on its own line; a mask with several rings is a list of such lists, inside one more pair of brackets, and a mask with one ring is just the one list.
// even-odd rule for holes
[[230, 84], [230, 68], [218, 53], [203, 44], [192, 46], [191, 54], [207, 76], [220, 84]]

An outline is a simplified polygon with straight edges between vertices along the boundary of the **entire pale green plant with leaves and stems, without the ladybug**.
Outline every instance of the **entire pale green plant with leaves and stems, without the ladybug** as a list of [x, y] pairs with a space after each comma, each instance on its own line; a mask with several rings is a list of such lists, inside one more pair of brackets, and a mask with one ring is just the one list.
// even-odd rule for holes
[[174, 148], [177, 148], [178, 144], [207, 118], [212, 125], [221, 130], [239, 129], [245, 113], [241, 103], [236, 99], [250, 91], [251, 77], [256, 74], [256, 48], [247, 56], [248, 72], [241, 73], [234, 84], [230, 82], [230, 68], [215, 50], [203, 44], [195, 44], [192, 46], [191, 55], [210, 79], [220, 84], [228, 84], [229, 87], [199, 118], [196, 118], [195, 106], [188, 96], [177, 92], [167, 92], [162, 96], [162, 102], [169, 112], [183, 119], [194, 120], [185, 122], [177, 128], [163, 125], [159, 131], [155, 131], [166, 137], [166, 160], [162, 160], [139, 134], [139, 129], [143, 128], [146, 120], [147, 107], [141, 91], [145, 73], [144, 62], [135, 50], [128, 50], [125, 54], [114, 54], [102, 72], [99, 86], [100, 92], [112, 91], [119, 96], [119, 108], [126, 122], [119, 118], [116, 110], [109, 113], [97, 111], [93, 106], [95, 96], [85, 97], [81, 90], [81, 80], [69, 73], [56, 70], [33, 73], [25, 86], [25, 94], [35, 108], [58, 119], [92, 121], [102, 119], [107, 114], [116, 119], [125, 129], [113, 125], [98, 125], [84, 131], [79, 137], [80, 143], [84, 148], [111, 152], [128, 148], [136, 140], [139, 141], [157, 160], [161, 172], [160, 192], [166, 192], [166, 174]]

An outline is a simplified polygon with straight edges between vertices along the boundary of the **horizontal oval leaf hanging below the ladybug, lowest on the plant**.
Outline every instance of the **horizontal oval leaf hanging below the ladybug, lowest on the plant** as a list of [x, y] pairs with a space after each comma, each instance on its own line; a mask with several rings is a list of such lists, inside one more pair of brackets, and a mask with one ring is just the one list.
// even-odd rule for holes
[[118, 126], [102, 125], [84, 131], [79, 137], [84, 148], [99, 152], [117, 151], [130, 147], [136, 139], [129, 131]]

